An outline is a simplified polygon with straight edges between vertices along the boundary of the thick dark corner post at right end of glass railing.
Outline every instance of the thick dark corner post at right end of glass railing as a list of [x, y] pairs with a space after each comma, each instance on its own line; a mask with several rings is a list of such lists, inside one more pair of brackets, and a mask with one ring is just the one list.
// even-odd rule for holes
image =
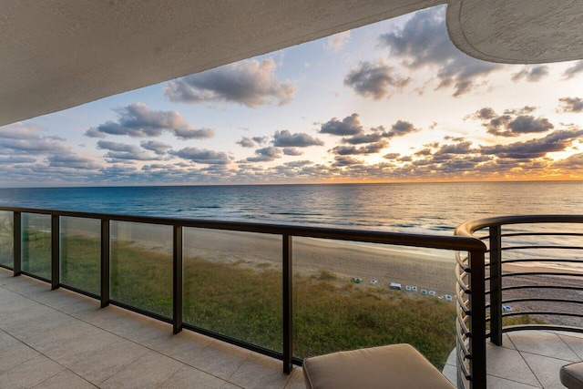
[[470, 251], [470, 387], [486, 389], [486, 281], [484, 252]]

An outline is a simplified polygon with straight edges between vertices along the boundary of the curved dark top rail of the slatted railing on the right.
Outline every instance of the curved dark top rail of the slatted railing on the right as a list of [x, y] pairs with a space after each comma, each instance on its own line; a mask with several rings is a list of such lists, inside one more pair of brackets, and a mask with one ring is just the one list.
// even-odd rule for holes
[[468, 220], [455, 229], [455, 235], [473, 236], [477, 230], [505, 224], [539, 224], [539, 223], [583, 223], [583, 215], [520, 215], [498, 216], [478, 220]]

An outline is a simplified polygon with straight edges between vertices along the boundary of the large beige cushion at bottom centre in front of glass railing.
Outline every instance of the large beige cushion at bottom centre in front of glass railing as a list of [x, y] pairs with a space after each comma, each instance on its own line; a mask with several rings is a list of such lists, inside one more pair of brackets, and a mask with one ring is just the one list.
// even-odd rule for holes
[[410, 344], [392, 344], [307, 358], [308, 389], [455, 388]]

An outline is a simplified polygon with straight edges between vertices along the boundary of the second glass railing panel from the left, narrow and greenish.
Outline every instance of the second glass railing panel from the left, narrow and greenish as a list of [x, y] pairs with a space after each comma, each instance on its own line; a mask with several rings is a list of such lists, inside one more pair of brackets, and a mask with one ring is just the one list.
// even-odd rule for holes
[[22, 214], [22, 270], [51, 279], [51, 216]]

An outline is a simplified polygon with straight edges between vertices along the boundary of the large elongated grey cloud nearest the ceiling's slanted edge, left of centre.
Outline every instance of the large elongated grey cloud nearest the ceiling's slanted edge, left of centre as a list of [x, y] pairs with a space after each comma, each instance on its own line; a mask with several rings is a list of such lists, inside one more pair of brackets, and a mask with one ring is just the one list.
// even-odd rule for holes
[[297, 87], [290, 81], [281, 84], [276, 67], [271, 58], [237, 62], [170, 81], [164, 94], [170, 101], [189, 104], [227, 101], [254, 108], [277, 102], [282, 106], [292, 101]]

